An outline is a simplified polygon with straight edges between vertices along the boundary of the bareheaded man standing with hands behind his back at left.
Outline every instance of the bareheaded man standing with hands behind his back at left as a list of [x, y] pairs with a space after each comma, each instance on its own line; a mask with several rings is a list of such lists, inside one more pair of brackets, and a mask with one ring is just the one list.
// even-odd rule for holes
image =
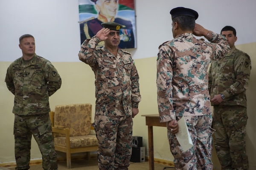
[[5, 78], [7, 88], [15, 95], [12, 110], [15, 114], [15, 169], [29, 169], [33, 135], [42, 153], [44, 170], [58, 170], [49, 96], [61, 87], [61, 78], [50, 61], [35, 54], [32, 35], [21, 36], [19, 47], [22, 57], [11, 63]]

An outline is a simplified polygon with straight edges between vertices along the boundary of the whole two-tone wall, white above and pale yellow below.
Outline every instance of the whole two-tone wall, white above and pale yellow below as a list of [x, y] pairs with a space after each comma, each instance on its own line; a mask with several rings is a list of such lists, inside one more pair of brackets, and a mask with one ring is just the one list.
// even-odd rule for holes
[[[132, 52], [135, 59], [140, 59], [136, 62], [139, 64], [138, 70], [143, 73], [140, 85], [144, 97], [142, 96], [140, 104], [140, 115], [157, 113], [157, 103], [154, 102], [156, 101], [155, 58], [158, 46], [172, 39], [169, 11], [177, 6], [198, 11], [197, 22], [214, 32], [220, 32], [226, 25], [234, 26], [238, 36], [236, 45], [241, 44], [238, 46], [239, 49], [242, 47], [241, 50], [248, 52], [251, 57], [253, 69], [247, 90], [249, 113], [247, 150], [251, 165], [256, 167], [254, 123], [256, 121], [256, 116], [254, 116], [256, 95], [254, 47], [256, 43], [253, 43], [256, 42], [255, 0], [136, 0], [137, 49], [128, 49], [128, 51]], [[21, 56], [21, 50], [18, 48], [20, 35], [27, 33], [34, 35], [36, 53], [55, 62], [54, 65], [58, 72], [63, 75], [61, 89], [50, 98], [52, 109], [57, 104], [67, 104], [70, 101], [95, 103], [93, 72], [89, 66], [78, 59], [80, 49], [78, 21], [77, 0], [0, 0], [0, 163], [15, 161], [12, 135], [14, 115], [11, 113], [14, 96], [6, 88], [4, 78], [10, 62]], [[251, 44], [244, 45], [244, 43]], [[68, 63], [70, 61], [73, 63]], [[84, 86], [85, 81], [86, 83], [90, 81], [90, 89]], [[152, 107], [146, 107], [147, 104]], [[144, 117], [140, 115], [134, 121], [134, 135], [143, 135], [143, 144], [147, 145], [147, 127]], [[154, 127], [154, 144], [155, 158], [173, 160], [169, 151], [166, 129], [163, 127]], [[31, 158], [41, 158], [34, 139]]]

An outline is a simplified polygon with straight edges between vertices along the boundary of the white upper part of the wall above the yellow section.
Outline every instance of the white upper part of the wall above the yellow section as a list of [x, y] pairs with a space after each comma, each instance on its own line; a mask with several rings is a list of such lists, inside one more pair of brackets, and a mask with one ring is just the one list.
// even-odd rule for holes
[[[136, 0], [137, 49], [128, 49], [135, 59], [156, 56], [158, 46], [172, 39], [169, 12], [177, 6], [195, 9], [197, 23], [214, 32], [234, 26], [236, 44], [256, 40], [255, 0]], [[0, 61], [21, 56], [18, 38], [27, 33], [35, 37], [38, 55], [52, 62], [79, 61], [78, 22], [77, 0], [1, 0]]]

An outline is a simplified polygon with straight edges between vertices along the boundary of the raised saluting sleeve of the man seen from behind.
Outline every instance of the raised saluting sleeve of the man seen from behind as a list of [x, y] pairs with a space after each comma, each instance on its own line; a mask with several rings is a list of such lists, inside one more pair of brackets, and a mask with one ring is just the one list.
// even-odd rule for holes
[[205, 38], [210, 41], [210, 43], [206, 42], [208, 46], [206, 51], [212, 51], [212, 59], [223, 58], [230, 51], [230, 46], [224, 36], [209, 31]]

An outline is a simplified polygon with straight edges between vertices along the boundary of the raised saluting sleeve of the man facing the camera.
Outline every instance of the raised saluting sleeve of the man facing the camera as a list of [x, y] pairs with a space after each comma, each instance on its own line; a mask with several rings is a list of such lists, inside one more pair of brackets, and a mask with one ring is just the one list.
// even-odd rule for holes
[[100, 40], [95, 36], [91, 39], [84, 40], [78, 54], [79, 60], [89, 64], [92, 69], [95, 67], [96, 64], [94, 51], [96, 50], [96, 46], [99, 42]]

